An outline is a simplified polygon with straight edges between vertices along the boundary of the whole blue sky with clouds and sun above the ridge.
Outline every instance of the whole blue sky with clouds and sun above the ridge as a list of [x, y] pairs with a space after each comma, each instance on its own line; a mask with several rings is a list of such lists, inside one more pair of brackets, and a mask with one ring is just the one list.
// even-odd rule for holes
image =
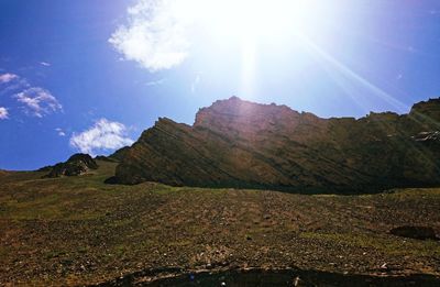
[[440, 1], [200, 1], [0, 0], [0, 168], [108, 154], [232, 95], [326, 118], [440, 96]]

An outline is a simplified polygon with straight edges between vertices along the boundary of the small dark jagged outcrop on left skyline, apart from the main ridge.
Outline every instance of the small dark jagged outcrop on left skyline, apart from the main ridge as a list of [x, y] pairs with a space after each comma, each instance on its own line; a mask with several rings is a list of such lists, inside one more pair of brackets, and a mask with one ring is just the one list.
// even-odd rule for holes
[[[47, 167], [45, 167], [47, 168]], [[44, 177], [78, 176], [90, 169], [97, 169], [98, 164], [88, 154], [74, 154], [67, 162], [54, 165], [51, 172]], [[42, 169], [44, 170], [44, 169]]]

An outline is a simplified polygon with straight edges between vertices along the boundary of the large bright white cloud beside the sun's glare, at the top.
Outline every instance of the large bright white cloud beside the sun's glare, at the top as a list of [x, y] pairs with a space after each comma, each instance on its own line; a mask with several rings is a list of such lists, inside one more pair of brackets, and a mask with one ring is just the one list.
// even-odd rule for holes
[[139, 0], [128, 9], [128, 24], [109, 42], [123, 55], [150, 71], [169, 69], [188, 55], [186, 27], [191, 21], [187, 1]]

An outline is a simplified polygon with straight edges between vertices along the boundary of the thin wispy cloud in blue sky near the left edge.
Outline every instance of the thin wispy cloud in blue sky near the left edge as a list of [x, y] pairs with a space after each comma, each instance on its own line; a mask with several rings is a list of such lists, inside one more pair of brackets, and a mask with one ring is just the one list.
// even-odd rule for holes
[[63, 111], [63, 106], [48, 91], [40, 87], [29, 88], [15, 95], [19, 102], [23, 103], [28, 114], [43, 118], [56, 111]]

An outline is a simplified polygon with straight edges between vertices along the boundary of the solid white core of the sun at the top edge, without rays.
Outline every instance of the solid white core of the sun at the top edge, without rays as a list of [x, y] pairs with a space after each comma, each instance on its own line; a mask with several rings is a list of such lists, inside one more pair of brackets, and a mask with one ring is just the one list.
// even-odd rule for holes
[[216, 36], [235, 40], [294, 35], [310, 29], [320, 19], [312, 0], [196, 2], [194, 9], [200, 11], [199, 24]]

